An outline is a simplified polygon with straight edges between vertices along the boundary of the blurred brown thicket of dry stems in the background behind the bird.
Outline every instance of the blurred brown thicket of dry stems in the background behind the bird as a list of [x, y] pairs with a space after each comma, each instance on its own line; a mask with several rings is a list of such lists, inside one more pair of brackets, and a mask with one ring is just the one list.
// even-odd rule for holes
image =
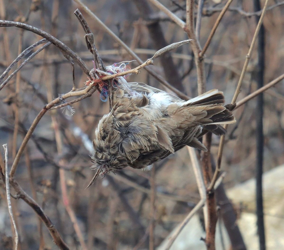
[[[185, 18], [185, 1], [160, 2], [180, 18]], [[152, 57], [157, 49], [164, 47], [159, 40], [160, 34], [153, 32], [157, 24], [161, 27], [166, 45], [187, 39], [184, 31], [162, 12], [151, 5], [149, 9], [143, 9], [145, 4], [148, 4], [147, 1], [98, 0], [84, 3], [143, 60]], [[144, 4], [143, 8], [141, 3]], [[200, 33], [201, 46], [204, 46], [225, 3], [226, 1], [205, 1]], [[269, 5], [277, 3], [270, 1]], [[48, 32], [70, 47], [91, 69], [93, 56], [86, 47], [85, 33], [74, 15], [77, 8], [78, 5], [70, 0], [0, 0], [2, 20], [25, 22]], [[106, 65], [133, 59], [83, 10], [80, 11], [94, 34], [95, 45]], [[206, 90], [222, 90], [226, 104], [232, 100], [239, 80], [255, 31], [256, 14], [252, 1], [233, 1], [206, 52]], [[266, 84], [283, 74], [283, 2], [279, 1], [277, 6], [267, 11], [263, 24], [266, 31]], [[23, 49], [40, 39], [41, 37], [34, 33], [15, 27], [0, 28], [1, 73]], [[170, 84], [188, 96], [197, 96], [197, 73], [190, 45], [181, 46], [162, 59], [155, 59], [154, 63], [154, 66], [148, 67], [164, 76]], [[134, 68], [136, 65], [133, 62], [130, 67]], [[256, 72], [255, 49], [238, 100], [257, 89]], [[86, 75], [75, 65], [76, 87], [83, 87], [87, 80]], [[144, 69], [141, 69], [138, 75], [130, 75], [127, 80], [145, 82], [169, 91]], [[59, 49], [51, 45], [30, 61], [0, 92], [0, 144], [8, 144], [9, 166], [26, 131], [43, 106], [71, 89], [72, 67]], [[265, 172], [284, 163], [283, 102], [283, 82], [264, 93]], [[155, 165], [155, 173], [127, 168], [116, 175], [110, 174], [103, 179], [97, 179], [94, 185], [84, 190], [94, 171], [89, 169], [90, 153], [84, 146], [84, 138], [76, 131], [85, 133], [92, 139], [97, 123], [108, 113], [109, 105], [108, 102], [102, 102], [96, 92], [90, 98], [72, 106], [76, 113], [71, 118], [62, 111], [55, 110], [48, 111], [41, 119], [21, 158], [16, 172], [18, 183], [41, 205], [70, 249], [81, 249], [81, 246], [73, 222], [66, 212], [66, 204], [62, 200], [59, 168], [65, 170], [70, 207], [74, 210], [87, 249], [147, 249], [149, 225], [153, 221], [154, 245], [160, 245], [200, 199], [187, 149], [183, 148], [158, 162]], [[226, 189], [254, 177], [256, 108], [255, 99], [247, 102], [234, 111], [237, 123], [228, 127], [222, 158], [222, 170], [227, 173], [223, 181]], [[211, 150], [216, 160], [220, 138], [213, 135], [212, 140]], [[1, 166], [3, 169], [2, 160]], [[153, 213], [150, 195], [154, 186], [156, 199]], [[277, 187], [275, 189], [275, 199], [281, 199], [279, 193], [277, 194]], [[0, 189], [0, 195], [0, 249], [12, 249], [12, 228], [5, 201], [5, 189]], [[242, 192], [237, 194], [240, 197], [242, 195]], [[238, 200], [234, 203], [235, 212], [239, 217], [246, 210], [254, 213], [254, 206], [248, 208], [240, 202]], [[20, 235], [19, 249], [57, 249], [48, 230], [40, 224], [34, 211], [22, 200], [12, 199], [12, 204]], [[283, 210], [282, 214], [272, 214], [273, 216], [278, 216], [278, 223], [283, 224]], [[202, 221], [202, 215], [200, 218]], [[284, 248], [284, 244], [282, 247]], [[252, 248], [247, 245], [247, 249]]]

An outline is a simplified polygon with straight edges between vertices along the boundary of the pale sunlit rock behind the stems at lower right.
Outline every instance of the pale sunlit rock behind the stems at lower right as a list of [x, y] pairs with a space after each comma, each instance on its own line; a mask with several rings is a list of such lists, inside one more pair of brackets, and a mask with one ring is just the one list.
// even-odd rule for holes
[[[263, 197], [264, 197], [264, 220], [266, 230], [266, 249], [284, 249], [284, 165], [274, 168], [263, 175]], [[258, 235], [255, 214], [255, 179], [250, 179], [227, 190], [229, 199], [233, 204], [242, 204], [246, 209], [241, 213], [238, 225], [243, 235], [248, 250], [258, 250]], [[169, 235], [169, 237], [172, 234]], [[227, 232], [222, 225], [222, 236], [225, 249], [230, 249]], [[168, 237], [168, 238], [169, 238]], [[198, 215], [195, 214], [183, 231], [179, 234], [170, 249], [206, 250], [204, 242], [200, 240], [205, 237]], [[165, 239], [158, 250], [166, 247], [168, 238]], [[223, 249], [220, 241], [220, 230], [216, 228], [216, 249]]]

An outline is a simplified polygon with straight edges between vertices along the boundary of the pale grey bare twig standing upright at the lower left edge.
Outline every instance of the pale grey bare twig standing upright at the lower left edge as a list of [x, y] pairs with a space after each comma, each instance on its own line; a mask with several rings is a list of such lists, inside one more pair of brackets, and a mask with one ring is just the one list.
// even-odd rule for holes
[[8, 149], [7, 144], [2, 145], [4, 148], [4, 155], [5, 155], [5, 185], [6, 185], [6, 195], [7, 195], [7, 203], [8, 203], [8, 210], [10, 214], [10, 218], [13, 224], [14, 229], [14, 243], [15, 243], [15, 250], [18, 249], [19, 237], [18, 231], [16, 228], [16, 223], [14, 220], [13, 212], [12, 212], [12, 205], [11, 205], [11, 195], [10, 195], [10, 184], [9, 184], [9, 171], [8, 171]]

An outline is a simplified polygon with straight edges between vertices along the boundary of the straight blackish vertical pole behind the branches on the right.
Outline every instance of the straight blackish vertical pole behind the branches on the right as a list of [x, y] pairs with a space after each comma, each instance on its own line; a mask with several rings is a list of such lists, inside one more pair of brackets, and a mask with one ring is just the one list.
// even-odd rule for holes
[[[254, 0], [254, 11], [261, 10], [260, 0]], [[258, 22], [259, 16], [256, 16]], [[264, 26], [261, 25], [258, 35], [258, 65], [256, 68], [256, 82], [258, 88], [263, 86], [264, 76]], [[263, 172], [263, 94], [257, 96], [256, 105], [256, 214], [260, 250], [265, 250], [263, 199], [262, 199], [262, 172]]]

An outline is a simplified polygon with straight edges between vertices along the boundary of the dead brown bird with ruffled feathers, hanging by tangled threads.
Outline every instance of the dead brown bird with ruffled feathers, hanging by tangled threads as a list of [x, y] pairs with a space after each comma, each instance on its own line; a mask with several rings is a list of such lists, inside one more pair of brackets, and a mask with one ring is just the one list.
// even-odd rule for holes
[[[143, 83], [117, 77], [113, 108], [99, 121], [93, 140], [92, 169], [100, 173], [127, 166], [143, 170], [185, 145], [207, 151], [198, 140], [208, 131], [224, 135], [219, 124], [235, 123], [223, 92], [210, 90], [184, 101]], [[88, 186], [89, 187], [89, 186]]]

